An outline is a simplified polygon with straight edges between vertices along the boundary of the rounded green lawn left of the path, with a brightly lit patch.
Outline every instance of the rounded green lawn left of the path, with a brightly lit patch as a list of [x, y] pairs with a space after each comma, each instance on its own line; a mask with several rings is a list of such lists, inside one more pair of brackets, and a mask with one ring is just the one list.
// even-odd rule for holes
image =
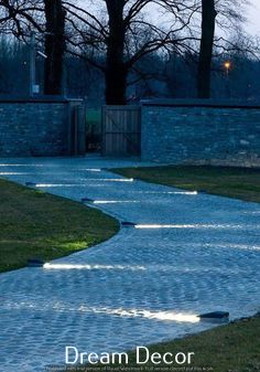
[[64, 198], [0, 179], [0, 272], [50, 261], [108, 240], [116, 220]]

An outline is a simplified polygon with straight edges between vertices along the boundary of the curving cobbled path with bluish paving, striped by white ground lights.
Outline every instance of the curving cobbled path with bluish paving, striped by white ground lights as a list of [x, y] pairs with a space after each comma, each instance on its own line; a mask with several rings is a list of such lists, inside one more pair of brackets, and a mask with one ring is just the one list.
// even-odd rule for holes
[[100, 159], [2, 160], [0, 177], [93, 200], [120, 221], [110, 241], [44, 268], [0, 275], [0, 370], [63, 364], [65, 346], [126, 351], [259, 311], [260, 206], [123, 179]]

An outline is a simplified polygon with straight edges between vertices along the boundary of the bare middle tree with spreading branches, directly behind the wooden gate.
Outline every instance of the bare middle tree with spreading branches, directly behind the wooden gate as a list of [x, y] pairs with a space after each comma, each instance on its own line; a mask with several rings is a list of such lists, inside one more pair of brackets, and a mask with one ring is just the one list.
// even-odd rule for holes
[[[123, 105], [129, 72], [138, 61], [162, 49], [180, 53], [188, 47], [188, 41], [194, 38], [184, 30], [197, 8], [189, 0], [101, 0], [101, 4], [104, 12], [96, 13], [64, 1], [72, 28], [71, 53], [85, 57], [105, 73], [107, 104]], [[151, 14], [151, 10], [171, 25], [161, 26], [147, 17], [145, 11]], [[75, 29], [76, 39], [73, 36]], [[100, 59], [104, 52], [105, 63]]]

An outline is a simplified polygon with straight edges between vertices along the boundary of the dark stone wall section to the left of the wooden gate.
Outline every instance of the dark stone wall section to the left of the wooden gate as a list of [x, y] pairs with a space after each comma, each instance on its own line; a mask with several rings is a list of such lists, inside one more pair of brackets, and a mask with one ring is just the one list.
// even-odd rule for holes
[[74, 109], [82, 104], [57, 97], [0, 99], [0, 157], [74, 155]]

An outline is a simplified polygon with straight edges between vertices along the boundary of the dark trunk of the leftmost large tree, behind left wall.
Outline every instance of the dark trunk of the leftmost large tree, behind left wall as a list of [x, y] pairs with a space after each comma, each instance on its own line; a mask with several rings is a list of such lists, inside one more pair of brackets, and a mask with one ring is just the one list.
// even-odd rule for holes
[[46, 18], [44, 94], [63, 94], [63, 59], [65, 42], [65, 11], [62, 0], [44, 0]]

